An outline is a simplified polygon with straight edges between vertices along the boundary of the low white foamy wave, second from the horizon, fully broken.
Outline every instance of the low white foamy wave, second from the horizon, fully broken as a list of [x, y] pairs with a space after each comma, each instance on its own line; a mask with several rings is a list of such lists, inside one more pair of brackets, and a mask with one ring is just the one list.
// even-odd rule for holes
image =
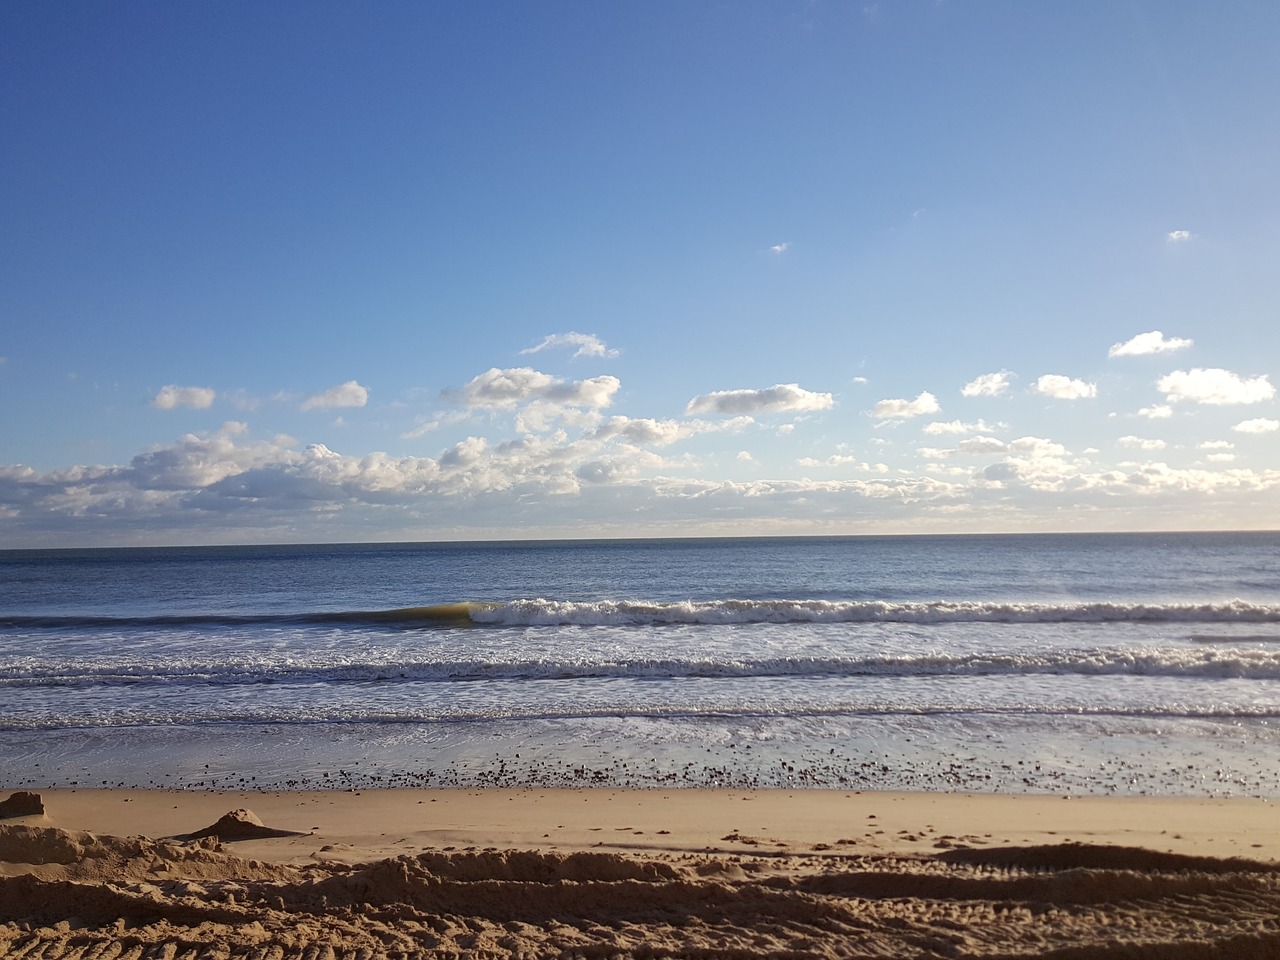
[[1009, 654], [379, 662], [64, 660], [0, 663], [3, 687], [406, 684], [553, 680], [1146, 676], [1280, 680], [1280, 650], [1082, 649]]

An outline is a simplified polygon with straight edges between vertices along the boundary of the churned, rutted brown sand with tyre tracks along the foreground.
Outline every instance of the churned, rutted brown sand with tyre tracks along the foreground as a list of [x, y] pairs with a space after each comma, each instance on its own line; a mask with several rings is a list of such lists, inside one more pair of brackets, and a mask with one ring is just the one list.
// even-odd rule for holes
[[0, 876], [0, 957], [1280, 956], [1275, 867], [1125, 849], [287, 868], [212, 840], [0, 827], [0, 858], [19, 873]]

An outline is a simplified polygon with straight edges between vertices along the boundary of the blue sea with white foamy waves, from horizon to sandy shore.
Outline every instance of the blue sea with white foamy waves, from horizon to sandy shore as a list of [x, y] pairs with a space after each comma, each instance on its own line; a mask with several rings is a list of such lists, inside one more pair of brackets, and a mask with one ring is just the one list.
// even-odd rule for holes
[[0, 550], [0, 785], [1280, 796], [1280, 534]]

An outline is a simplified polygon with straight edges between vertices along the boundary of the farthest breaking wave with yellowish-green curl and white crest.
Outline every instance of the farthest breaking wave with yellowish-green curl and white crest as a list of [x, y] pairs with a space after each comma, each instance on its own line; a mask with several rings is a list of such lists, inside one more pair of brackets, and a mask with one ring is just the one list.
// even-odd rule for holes
[[10, 628], [200, 627], [255, 625], [677, 626], [750, 623], [1280, 623], [1280, 604], [1009, 603], [992, 600], [548, 600], [440, 603], [383, 611], [179, 613], [143, 617], [5, 616]]

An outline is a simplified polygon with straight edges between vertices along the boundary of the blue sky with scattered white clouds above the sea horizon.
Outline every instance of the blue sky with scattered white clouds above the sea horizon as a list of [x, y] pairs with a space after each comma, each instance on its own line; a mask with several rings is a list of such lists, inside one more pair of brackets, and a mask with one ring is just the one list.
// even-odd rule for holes
[[0, 548], [1280, 529], [1280, 5], [0, 5]]

